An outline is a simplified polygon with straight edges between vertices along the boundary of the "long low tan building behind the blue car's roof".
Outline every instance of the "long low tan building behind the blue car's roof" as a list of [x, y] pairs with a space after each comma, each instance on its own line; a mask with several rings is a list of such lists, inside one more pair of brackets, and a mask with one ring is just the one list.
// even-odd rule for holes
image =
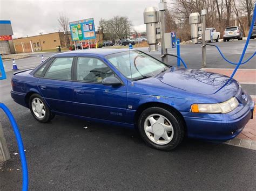
[[63, 32], [53, 32], [39, 36], [18, 38], [14, 39], [13, 42], [16, 53], [56, 49], [56, 46], [60, 46], [61, 48], [66, 47], [65, 35]]

